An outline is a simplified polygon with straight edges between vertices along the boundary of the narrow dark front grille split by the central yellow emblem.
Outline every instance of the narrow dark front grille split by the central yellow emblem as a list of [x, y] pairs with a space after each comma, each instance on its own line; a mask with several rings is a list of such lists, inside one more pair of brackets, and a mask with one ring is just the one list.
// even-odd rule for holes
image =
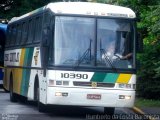
[[[73, 81], [74, 86], [86, 86], [86, 87], [92, 87], [92, 82], [78, 82]], [[97, 83], [97, 87], [108, 87], [113, 88], [115, 86], [114, 83]]]

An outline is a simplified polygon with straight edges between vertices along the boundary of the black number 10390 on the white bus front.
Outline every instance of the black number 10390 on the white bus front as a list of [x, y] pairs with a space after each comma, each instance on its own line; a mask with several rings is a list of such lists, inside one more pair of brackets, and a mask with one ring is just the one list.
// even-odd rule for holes
[[75, 73], [61, 73], [61, 78], [70, 78], [70, 79], [88, 79], [87, 74], [75, 74]]

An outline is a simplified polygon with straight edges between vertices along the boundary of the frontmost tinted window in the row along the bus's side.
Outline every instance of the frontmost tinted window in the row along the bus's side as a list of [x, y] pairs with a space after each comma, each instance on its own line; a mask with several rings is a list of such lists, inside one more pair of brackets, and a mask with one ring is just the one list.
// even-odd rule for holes
[[34, 43], [40, 42], [40, 40], [41, 40], [41, 31], [42, 31], [42, 18], [41, 17], [36, 17]]

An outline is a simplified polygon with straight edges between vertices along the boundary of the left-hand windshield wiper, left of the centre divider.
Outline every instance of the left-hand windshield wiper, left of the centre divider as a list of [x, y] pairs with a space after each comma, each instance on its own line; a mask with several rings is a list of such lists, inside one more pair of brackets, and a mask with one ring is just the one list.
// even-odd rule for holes
[[78, 59], [78, 62], [76, 63], [75, 68], [79, 67], [79, 65], [84, 60], [88, 60], [88, 55], [89, 55], [89, 60], [88, 61], [91, 61], [91, 42], [92, 42], [92, 39], [90, 39], [89, 48], [82, 54], [82, 56], [80, 57], [80, 59]]

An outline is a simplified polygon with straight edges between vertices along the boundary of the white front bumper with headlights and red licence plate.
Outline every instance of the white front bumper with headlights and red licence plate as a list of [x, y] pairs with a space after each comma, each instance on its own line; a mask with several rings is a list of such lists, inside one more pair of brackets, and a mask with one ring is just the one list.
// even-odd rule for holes
[[48, 87], [46, 104], [133, 107], [134, 90]]

